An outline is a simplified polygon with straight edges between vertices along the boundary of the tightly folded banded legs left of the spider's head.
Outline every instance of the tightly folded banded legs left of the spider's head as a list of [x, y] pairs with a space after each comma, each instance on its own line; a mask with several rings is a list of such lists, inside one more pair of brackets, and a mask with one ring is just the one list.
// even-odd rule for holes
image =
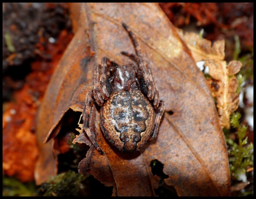
[[102, 105], [104, 100], [109, 98], [109, 92], [107, 87], [109, 87], [109, 82], [106, 78], [106, 67], [108, 66], [109, 59], [106, 57], [102, 58], [102, 62], [99, 65], [95, 66], [94, 73], [94, 99], [98, 105]]

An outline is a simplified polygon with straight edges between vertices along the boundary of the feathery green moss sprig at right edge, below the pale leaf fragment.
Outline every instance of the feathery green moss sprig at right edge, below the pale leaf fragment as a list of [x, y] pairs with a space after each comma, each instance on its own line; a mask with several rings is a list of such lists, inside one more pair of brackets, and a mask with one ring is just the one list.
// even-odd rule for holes
[[240, 176], [245, 175], [246, 169], [253, 166], [253, 144], [248, 143], [248, 137], [246, 137], [247, 127], [240, 124], [240, 118], [241, 114], [239, 112], [234, 113], [230, 118], [231, 126], [237, 130], [238, 143], [226, 138], [226, 142], [230, 146], [230, 173], [231, 177], [236, 180], [240, 180]]

